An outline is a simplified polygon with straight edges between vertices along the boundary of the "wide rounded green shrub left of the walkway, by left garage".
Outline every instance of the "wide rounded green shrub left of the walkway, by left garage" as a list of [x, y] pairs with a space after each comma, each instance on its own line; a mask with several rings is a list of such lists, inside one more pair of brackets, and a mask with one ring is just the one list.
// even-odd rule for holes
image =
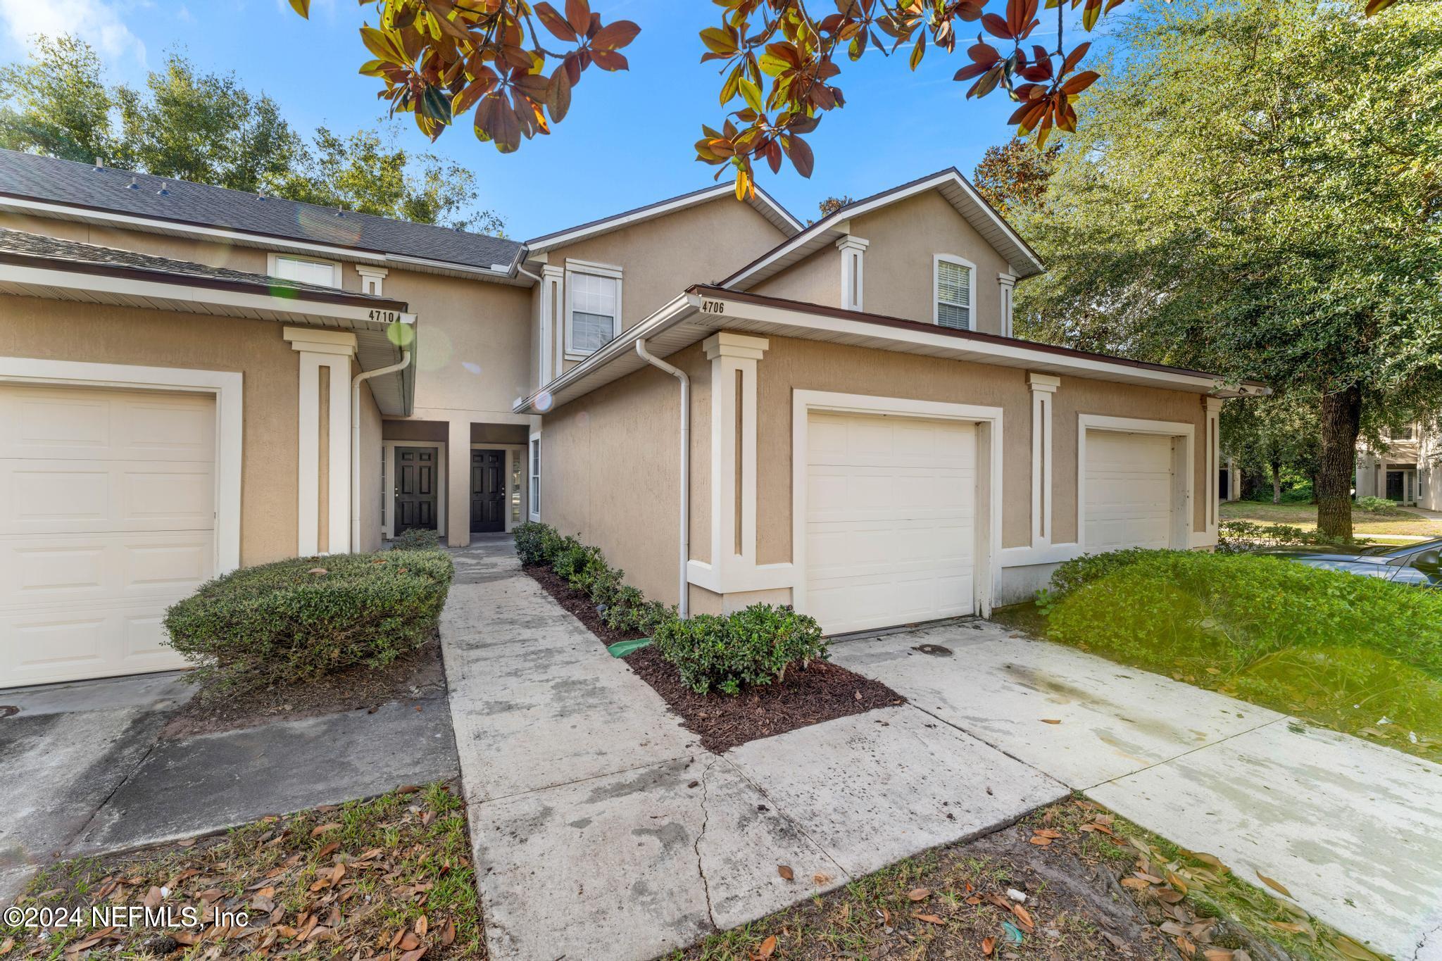
[[443, 550], [296, 558], [241, 568], [166, 611], [170, 645], [213, 690], [384, 667], [435, 630], [453, 568]]

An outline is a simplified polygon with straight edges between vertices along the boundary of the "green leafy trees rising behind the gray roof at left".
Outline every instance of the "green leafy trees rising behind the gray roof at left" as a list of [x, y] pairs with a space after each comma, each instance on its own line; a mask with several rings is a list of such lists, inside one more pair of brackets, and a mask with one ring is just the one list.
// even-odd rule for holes
[[234, 73], [206, 73], [180, 53], [144, 89], [110, 86], [95, 50], [39, 37], [29, 63], [0, 68], [0, 147], [420, 223], [500, 233], [476, 210], [476, 177], [397, 146], [394, 130], [307, 143], [268, 95]]

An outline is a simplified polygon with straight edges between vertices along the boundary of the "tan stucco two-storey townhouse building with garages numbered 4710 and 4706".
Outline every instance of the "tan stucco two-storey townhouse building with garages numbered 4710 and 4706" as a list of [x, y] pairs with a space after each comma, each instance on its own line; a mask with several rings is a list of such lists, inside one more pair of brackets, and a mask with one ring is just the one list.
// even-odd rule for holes
[[176, 667], [206, 578], [407, 527], [545, 520], [831, 633], [1213, 545], [1231, 393], [1014, 339], [1041, 271], [955, 170], [518, 243], [0, 151], [0, 686]]

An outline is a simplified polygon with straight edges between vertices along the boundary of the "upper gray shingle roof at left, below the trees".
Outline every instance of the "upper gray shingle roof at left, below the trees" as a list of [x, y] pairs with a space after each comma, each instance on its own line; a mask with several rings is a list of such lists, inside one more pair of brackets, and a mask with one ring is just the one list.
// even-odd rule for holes
[[[130, 184], [134, 180], [136, 187]], [[166, 193], [160, 193], [162, 187]], [[0, 150], [0, 195], [489, 269], [521, 243], [428, 223]]]

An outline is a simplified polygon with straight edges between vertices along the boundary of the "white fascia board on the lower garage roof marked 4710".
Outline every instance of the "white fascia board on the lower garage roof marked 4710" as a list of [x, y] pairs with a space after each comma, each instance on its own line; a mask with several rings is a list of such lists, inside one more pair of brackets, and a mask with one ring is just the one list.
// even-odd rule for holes
[[242, 291], [215, 290], [211, 287], [180, 282], [146, 281], [105, 274], [81, 274], [52, 271], [36, 267], [0, 264], [0, 282], [25, 287], [53, 287], [58, 290], [84, 291], [87, 294], [110, 294], [112, 297], [140, 297], [177, 304], [219, 307], [229, 311], [268, 311], [339, 320], [356, 326], [379, 326], [389, 323], [414, 324], [415, 314], [386, 310], [384, 305], [360, 307], [353, 304], [330, 304], [297, 297], [275, 297], [273, 294], [248, 294]]

